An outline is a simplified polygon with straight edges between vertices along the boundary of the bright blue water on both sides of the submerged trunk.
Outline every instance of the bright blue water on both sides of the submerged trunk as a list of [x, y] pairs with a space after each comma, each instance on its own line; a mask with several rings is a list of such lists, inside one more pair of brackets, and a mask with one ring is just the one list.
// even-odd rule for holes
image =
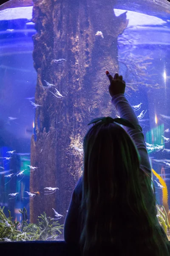
[[[119, 2], [112, 6], [113, 12], [119, 16], [127, 11], [129, 23], [118, 37], [118, 71], [126, 81], [126, 96], [131, 105], [142, 103], [136, 114], [145, 113], [139, 121], [145, 141], [152, 144], [152, 150], [148, 149], [150, 163], [170, 192], [170, 4], [164, 0], [163, 9], [162, 5], [153, 3], [155, 8], [152, 10], [150, 1], [148, 9], [143, 9], [140, 4], [132, 5], [128, 0]], [[32, 6], [0, 10], [0, 206], [5, 206], [6, 214], [9, 209], [18, 221], [22, 220], [18, 209], [26, 207], [28, 222], [30, 200], [34, 200], [26, 198], [26, 191], [30, 191], [30, 172], [17, 174], [31, 166], [32, 134], [37, 140], [35, 108], [30, 102], [34, 102], [37, 84], [32, 57], [32, 35], [36, 30], [31, 18]], [[59, 64], [63, 64], [62, 61]], [[38, 122], [40, 126], [40, 120]], [[156, 149], [155, 145], [163, 148]], [[7, 151], [14, 151], [14, 154]], [[1, 173], [8, 170], [6, 174]], [[11, 180], [5, 177], [11, 173], [14, 173]], [[160, 183], [153, 175], [156, 199], [162, 205], [162, 189], [155, 180]], [[11, 193], [18, 194], [9, 199]], [[168, 204], [170, 206], [170, 197]], [[57, 212], [65, 217], [65, 212], [60, 209]]]

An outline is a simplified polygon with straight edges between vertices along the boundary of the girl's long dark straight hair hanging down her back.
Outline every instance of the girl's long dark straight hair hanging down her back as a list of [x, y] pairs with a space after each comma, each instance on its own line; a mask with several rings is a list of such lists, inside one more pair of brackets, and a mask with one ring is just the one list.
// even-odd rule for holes
[[[145, 205], [140, 156], [130, 136], [120, 125], [99, 122], [85, 135], [83, 148], [82, 255], [168, 255]], [[143, 174], [154, 207], [151, 180]]]

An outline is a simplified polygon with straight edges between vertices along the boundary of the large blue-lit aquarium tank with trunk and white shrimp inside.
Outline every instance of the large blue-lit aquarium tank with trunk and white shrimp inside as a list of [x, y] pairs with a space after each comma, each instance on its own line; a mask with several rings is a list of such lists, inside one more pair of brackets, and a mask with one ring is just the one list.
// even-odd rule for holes
[[170, 3], [10, 0], [0, 6], [0, 241], [63, 240], [91, 119], [126, 81], [170, 240]]

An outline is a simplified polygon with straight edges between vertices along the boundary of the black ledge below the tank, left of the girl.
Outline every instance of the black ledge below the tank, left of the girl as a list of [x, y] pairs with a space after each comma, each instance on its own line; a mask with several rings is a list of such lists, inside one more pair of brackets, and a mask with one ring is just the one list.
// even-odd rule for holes
[[3, 242], [0, 252], [11, 256], [80, 256], [77, 248], [65, 241]]

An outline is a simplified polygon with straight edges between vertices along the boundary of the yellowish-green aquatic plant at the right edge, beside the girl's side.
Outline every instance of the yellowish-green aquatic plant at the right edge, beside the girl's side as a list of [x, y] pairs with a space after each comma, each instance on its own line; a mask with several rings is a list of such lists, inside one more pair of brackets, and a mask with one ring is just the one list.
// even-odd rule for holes
[[170, 240], [170, 224], [167, 218], [167, 212], [165, 211], [163, 206], [160, 205], [156, 205], [157, 208], [157, 218], [158, 221], [161, 225], [161, 227], [163, 227], [167, 238]]

